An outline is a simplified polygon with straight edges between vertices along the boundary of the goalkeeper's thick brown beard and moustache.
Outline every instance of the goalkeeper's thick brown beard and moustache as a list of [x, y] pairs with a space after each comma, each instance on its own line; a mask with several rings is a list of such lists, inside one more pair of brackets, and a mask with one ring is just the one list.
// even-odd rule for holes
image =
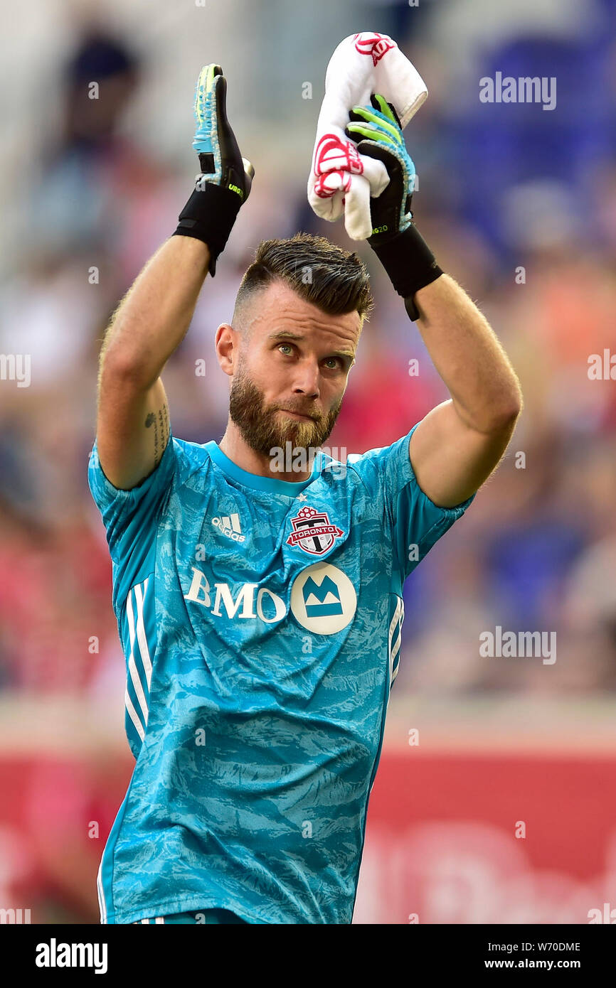
[[[293, 450], [316, 451], [328, 438], [342, 405], [342, 398], [334, 405], [328, 415], [319, 416], [313, 409], [302, 406], [299, 402], [289, 401], [284, 406], [279, 404], [267, 405], [259, 388], [243, 372], [237, 371], [231, 381], [229, 395], [229, 415], [231, 421], [239, 429], [245, 443], [255, 453], [272, 456], [272, 450], [286, 450], [286, 443], [291, 443]], [[312, 415], [314, 421], [300, 422], [293, 419], [283, 420], [276, 412], [280, 408], [297, 412], [300, 415]]]

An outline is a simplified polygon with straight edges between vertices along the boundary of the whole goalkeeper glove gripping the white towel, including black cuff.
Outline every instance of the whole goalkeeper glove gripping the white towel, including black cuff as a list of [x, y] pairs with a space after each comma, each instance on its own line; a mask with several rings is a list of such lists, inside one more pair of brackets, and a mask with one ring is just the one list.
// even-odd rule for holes
[[413, 321], [419, 312], [413, 295], [443, 274], [412, 221], [415, 166], [404, 145], [396, 110], [373, 93], [370, 107], [353, 107], [345, 133], [360, 154], [382, 161], [389, 185], [370, 201], [372, 234], [368, 243], [383, 264]]

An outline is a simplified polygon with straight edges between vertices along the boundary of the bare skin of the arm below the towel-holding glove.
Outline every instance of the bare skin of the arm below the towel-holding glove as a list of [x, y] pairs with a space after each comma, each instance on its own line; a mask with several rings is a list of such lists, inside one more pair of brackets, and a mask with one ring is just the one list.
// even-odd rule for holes
[[449, 275], [413, 295], [419, 329], [451, 399], [414, 430], [410, 461], [441, 507], [471, 497], [498, 464], [522, 407], [517, 376], [483, 314]]

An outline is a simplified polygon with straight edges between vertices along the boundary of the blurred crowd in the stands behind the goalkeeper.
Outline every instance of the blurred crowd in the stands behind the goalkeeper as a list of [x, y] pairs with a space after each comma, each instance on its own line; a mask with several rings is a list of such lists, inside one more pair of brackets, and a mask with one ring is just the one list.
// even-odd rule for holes
[[[587, 372], [590, 355], [616, 353], [614, 4], [593, 4], [583, 30], [571, 17], [559, 22], [568, 4], [515, 4], [520, 16], [504, 34], [494, 15], [493, 32], [488, 19], [468, 41], [471, 67], [456, 64], [451, 25], [435, 6], [413, 21], [405, 4], [365, 5], [364, 23], [391, 31], [428, 82], [406, 132], [417, 225], [498, 334], [525, 407], [496, 474], [405, 584], [394, 693], [614, 691], [616, 389]], [[533, 8], [552, 21], [533, 21]], [[323, 72], [340, 39], [321, 42]], [[0, 353], [32, 362], [29, 387], [0, 380], [0, 688], [15, 693], [122, 697], [111, 561], [86, 479], [98, 352], [111, 313], [175, 228], [196, 168], [157, 156], [123, 125], [142, 95], [143, 57], [101, 20], [84, 23], [71, 50], [58, 48], [60, 120], [33, 137], [19, 235], [4, 262]], [[496, 70], [556, 76], [557, 108], [480, 104], [479, 79]], [[164, 371], [177, 438], [220, 440], [227, 381], [216, 328], [259, 240], [300, 229], [357, 249], [377, 302], [328, 446], [387, 446], [447, 397], [370, 249], [308, 208], [320, 79], [314, 89], [311, 117], [303, 107], [305, 170], [288, 174], [266, 139], [255, 148], [251, 198]], [[174, 93], [178, 104], [191, 97]], [[187, 132], [189, 151], [191, 140]], [[205, 376], [195, 374], [198, 359]], [[480, 634], [496, 625], [556, 631], [557, 662], [481, 657]]]

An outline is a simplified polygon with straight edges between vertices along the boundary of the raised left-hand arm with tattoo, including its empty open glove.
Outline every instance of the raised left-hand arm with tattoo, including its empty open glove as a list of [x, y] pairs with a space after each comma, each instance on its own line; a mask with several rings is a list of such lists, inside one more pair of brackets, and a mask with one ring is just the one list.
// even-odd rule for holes
[[254, 169], [226, 119], [226, 80], [206, 65], [195, 99], [201, 175], [174, 234], [135, 279], [114, 313], [101, 349], [97, 447], [103, 472], [129, 490], [158, 465], [169, 438], [160, 374], [184, 339], [197, 299], [216, 264]]

